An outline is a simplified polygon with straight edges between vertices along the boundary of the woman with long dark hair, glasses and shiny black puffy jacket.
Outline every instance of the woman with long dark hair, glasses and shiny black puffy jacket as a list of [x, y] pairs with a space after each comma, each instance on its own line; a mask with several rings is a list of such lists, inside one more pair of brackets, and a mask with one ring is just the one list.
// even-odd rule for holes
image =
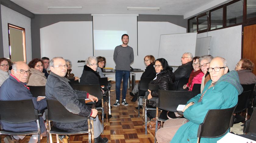
[[[151, 84], [158, 84], [161, 90], [169, 90], [169, 85], [175, 81], [175, 76], [172, 72], [172, 68], [169, 67], [168, 62], [164, 58], [160, 58], [155, 60], [155, 73], [156, 77], [154, 80], [151, 80]], [[148, 100], [149, 101], [152, 97], [158, 97], [159, 92], [158, 90], [148, 90]], [[148, 102], [149, 105], [155, 106], [154, 102]], [[155, 111], [148, 111], [147, 115], [151, 119], [155, 117]]]

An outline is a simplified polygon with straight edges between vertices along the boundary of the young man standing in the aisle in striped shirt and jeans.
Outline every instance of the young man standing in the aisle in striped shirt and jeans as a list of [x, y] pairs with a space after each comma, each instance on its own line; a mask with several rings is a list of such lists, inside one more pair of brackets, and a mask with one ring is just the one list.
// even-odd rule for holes
[[129, 36], [127, 34], [122, 35], [122, 45], [116, 46], [114, 51], [114, 61], [116, 63], [116, 102], [113, 105], [117, 107], [120, 105], [120, 87], [123, 79], [123, 91], [122, 91], [122, 104], [128, 106], [126, 102], [126, 91], [128, 79], [130, 77], [130, 65], [133, 63], [133, 48], [128, 46]]

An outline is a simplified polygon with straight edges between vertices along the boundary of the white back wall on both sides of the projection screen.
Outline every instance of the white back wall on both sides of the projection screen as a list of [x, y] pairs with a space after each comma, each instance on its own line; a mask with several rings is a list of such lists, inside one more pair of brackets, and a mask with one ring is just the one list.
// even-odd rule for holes
[[[158, 57], [158, 48], [161, 34], [184, 33], [186, 29], [169, 22], [138, 22], [138, 56], [134, 56], [133, 68], [144, 70], [144, 56]], [[53, 58], [63, 56], [73, 63], [72, 73], [80, 77], [85, 60], [93, 55], [92, 49], [92, 22], [58, 22], [40, 29], [41, 56]], [[128, 44], [129, 45], [129, 44]], [[137, 49], [133, 49], [137, 50]], [[50, 52], [49, 52], [50, 51]], [[94, 55], [105, 56], [105, 55]], [[105, 56], [106, 67], [115, 68], [113, 56]], [[142, 73], [136, 73], [139, 80]], [[114, 74], [107, 75], [114, 77]]]

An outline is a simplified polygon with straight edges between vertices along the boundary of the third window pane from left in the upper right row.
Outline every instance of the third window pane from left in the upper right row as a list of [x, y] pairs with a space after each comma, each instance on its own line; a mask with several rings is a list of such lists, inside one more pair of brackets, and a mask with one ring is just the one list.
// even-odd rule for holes
[[211, 12], [211, 30], [223, 27], [223, 8]]

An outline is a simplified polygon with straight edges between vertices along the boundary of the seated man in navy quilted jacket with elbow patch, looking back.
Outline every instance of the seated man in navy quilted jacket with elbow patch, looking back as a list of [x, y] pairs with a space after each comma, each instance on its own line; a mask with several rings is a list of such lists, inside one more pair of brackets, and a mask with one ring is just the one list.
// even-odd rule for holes
[[[98, 119], [98, 111], [96, 109], [90, 109], [83, 104], [80, 104], [79, 98], [89, 98], [91, 101], [98, 101], [97, 97], [90, 95], [85, 91], [73, 90], [68, 83], [68, 79], [65, 77], [67, 72], [66, 61], [62, 57], [54, 57], [50, 61], [51, 72], [47, 78], [45, 85], [45, 95], [47, 99], [58, 100], [69, 112], [78, 114], [79, 116], [94, 118], [94, 141], [95, 143], [106, 143], [107, 138], [101, 138], [100, 134], [103, 131], [103, 127]], [[58, 123], [54, 122], [53, 126], [56, 128], [76, 132], [88, 129], [87, 120], [75, 122], [75, 123]], [[67, 136], [61, 136], [60, 140], [64, 143], [67, 142]]]

